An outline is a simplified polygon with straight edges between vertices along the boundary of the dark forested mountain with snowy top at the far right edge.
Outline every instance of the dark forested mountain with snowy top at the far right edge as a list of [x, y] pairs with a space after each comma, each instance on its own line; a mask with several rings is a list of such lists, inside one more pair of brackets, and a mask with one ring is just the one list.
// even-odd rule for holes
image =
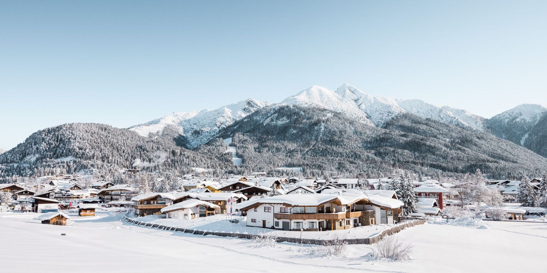
[[521, 104], [487, 122], [492, 134], [547, 156], [547, 108], [544, 106]]

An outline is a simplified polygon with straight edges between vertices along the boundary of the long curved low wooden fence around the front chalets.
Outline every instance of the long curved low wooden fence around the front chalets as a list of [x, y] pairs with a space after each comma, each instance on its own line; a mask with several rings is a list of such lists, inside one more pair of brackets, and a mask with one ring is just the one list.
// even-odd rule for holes
[[[231, 233], [231, 232], [203, 232], [201, 230], [188, 229], [188, 228], [167, 227], [165, 225], [137, 221], [127, 216], [124, 216], [123, 219], [126, 222], [129, 222], [131, 224], [136, 224], [136, 225], [142, 225], [143, 227], [172, 230], [174, 232], [184, 232], [184, 233], [203, 235], [203, 236], [215, 235], [215, 236], [222, 236], [222, 237], [242, 238], [242, 239], [253, 239], [255, 238], [255, 236], [257, 236], [255, 234], [243, 234], [243, 233]], [[424, 219], [403, 222], [403, 223], [395, 225], [394, 227], [386, 228], [382, 230], [379, 234], [376, 234], [369, 238], [354, 238], [354, 239], [343, 239], [343, 240], [350, 245], [357, 245], [357, 244], [372, 245], [375, 242], [382, 240], [384, 236], [389, 236], [389, 235], [398, 233], [405, 228], [414, 227], [415, 225], [424, 224], [424, 223], [426, 223], [426, 220]], [[294, 238], [294, 237], [276, 237], [276, 240], [277, 242], [292, 242], [295, 244], [306, 244], [306, 245], [330, 245], [334, 243], [334, 240], [304, 239], [304, 238]]]

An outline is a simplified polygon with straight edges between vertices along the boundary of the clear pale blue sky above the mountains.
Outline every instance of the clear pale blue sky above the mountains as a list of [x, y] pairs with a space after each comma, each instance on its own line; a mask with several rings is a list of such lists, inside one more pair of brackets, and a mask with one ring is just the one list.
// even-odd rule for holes
[[0, 147], [311, 85], [490, 117], [547, 105], [547, 1], [2, 1]]

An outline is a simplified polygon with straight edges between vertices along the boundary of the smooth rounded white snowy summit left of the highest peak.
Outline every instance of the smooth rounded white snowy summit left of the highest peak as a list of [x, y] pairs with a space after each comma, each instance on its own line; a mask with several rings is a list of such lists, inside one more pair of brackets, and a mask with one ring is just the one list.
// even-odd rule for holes
[[333, 91], [321, 86], [312, 86], [300, 91], [294, 96], [288, 97], [281, 102], [282, 105], [317, 106], [331, 111], [340, 112], [353, 120], [365, 124], [374, 125], [365, 112], [349, 99], [343, 98]]

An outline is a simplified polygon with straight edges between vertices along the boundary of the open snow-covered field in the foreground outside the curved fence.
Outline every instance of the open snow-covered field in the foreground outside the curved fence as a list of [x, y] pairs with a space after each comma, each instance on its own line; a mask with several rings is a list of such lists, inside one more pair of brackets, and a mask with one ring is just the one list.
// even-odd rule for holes
[[547, 244], [544, 223], [428, 223], [393, 235], [414, 245], [411, 262], [394, 263], [371, 259], [368, 245], [348, 246], [346, 257], [320, 257], [310, 254], [317, 246], [259, 248], [251, 240], [137, 227], [111, 211], [68, 213], [66, 227], [40, 224], [37, 215], [0, 213], [0, 271], [543, 272]]

